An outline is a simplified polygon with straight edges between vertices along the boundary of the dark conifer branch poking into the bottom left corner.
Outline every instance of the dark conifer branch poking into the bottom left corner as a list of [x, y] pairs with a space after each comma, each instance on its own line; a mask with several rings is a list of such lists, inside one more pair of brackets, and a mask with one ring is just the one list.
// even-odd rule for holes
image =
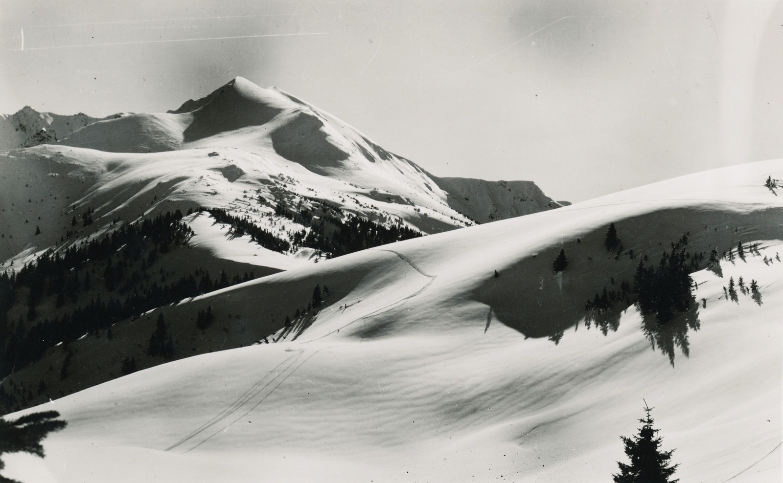
[[[44, 447], [41, 440], [52, 431], [60, 431], [67, 423], [57, 420], [60, 413], [44, 411], [31, 413], [14, 420], [4, 420], [0, 417], [0, 456], [3, 453], [30, 453], [44, 457]], [[0, 460], [0, 470], [5, 463]], [[5, 478], [0, 474], [0, 483], [20, 483], [20, 481]]]

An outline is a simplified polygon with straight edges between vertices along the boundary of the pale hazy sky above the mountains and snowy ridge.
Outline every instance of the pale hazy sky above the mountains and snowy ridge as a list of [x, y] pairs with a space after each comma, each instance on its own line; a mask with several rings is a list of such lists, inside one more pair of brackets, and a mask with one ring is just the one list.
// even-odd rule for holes
[[0, 0], [0, 31], [0, 113], [165, 111], [242, 76], [438, 176], [570, 201], [783, 157], [777, 2]]

